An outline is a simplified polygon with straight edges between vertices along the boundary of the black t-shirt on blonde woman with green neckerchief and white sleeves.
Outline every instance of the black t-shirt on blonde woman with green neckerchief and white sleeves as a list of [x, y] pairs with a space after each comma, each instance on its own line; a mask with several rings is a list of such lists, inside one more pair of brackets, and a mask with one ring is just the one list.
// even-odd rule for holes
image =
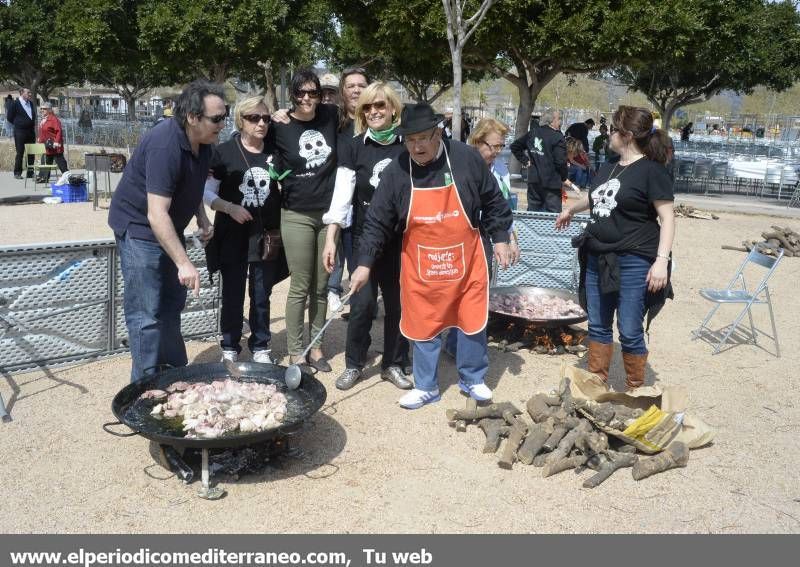
[[364, 134], [351, 138], [347, 144], [342, 144], [339, 148], [339, 166], [352, 169], [356, 173], [356, 190], [353, 193], [354, 236], [361, 234], [381, 173], [403, 152], [403, 149], [400, 136], [397, 136], [394, 143], [383, 145]]

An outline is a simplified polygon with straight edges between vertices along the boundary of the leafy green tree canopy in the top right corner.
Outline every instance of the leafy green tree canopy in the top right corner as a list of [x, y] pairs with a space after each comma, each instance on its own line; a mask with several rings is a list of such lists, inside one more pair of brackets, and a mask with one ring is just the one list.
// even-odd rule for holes
[[[668, 128], [675, 111], [723, 90], [781, 91], [800, 78], [800, 15], [790, 1], [686, 0], [693, 18], [655, 47], [657, 56], [613, 74], [647, 96]], [[655, 54], [654, 54], [655, 55]]]

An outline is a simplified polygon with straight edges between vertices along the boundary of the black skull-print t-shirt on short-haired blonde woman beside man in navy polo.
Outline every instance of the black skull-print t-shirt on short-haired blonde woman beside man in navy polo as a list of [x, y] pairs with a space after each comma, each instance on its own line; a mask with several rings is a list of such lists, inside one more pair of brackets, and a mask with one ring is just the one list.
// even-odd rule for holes
[[215, 215], [214, 238], [226, 263], [245, 261], [249, 240], [260, 234], [262, 222], [266, 229], [280, 228], [281, 224], [280, 190], [269, 178], [269, 166], [274, 161], [271, 149], [265, 144], [264, 151], [256, 154], [247, 151], [239, 140], [234, 135], [217, 146], [211, 158], [211, 174], [220, 180], [220, 198], [241, 205], [253, 216], [252, 221], [239, 224], [225, 213]]

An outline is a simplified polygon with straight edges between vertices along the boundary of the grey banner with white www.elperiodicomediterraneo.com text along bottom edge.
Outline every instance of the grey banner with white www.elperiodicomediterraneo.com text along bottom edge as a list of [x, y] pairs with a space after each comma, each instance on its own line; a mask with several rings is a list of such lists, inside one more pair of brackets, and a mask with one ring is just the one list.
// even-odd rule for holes
[[797, 536], [0, 536], [0, 567], [766, 567], [797, 557]]

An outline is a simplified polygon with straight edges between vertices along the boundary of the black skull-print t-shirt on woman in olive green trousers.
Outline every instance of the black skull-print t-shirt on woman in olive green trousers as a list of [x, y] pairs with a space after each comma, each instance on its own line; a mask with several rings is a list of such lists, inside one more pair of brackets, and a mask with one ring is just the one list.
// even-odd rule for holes
[[291, 173], [282, 181], [285, 209], [327, 210], [336, 181], [336, 140], [339, 111], [320, 104], [312, 120], [290, 115], [288, 124], [272, 123], [267, 140], [274, 144], [282, 171]]

